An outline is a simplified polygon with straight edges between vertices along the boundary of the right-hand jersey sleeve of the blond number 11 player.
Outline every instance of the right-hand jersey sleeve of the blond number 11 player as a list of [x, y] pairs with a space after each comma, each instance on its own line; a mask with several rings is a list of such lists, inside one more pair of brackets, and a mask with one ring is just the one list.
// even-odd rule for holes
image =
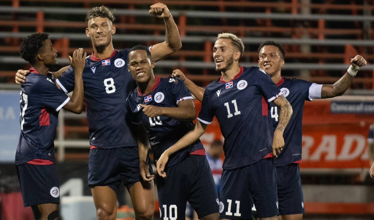
[[261, 93], [264, 95], [268, 102], [275, 100], [276, 98], [281, 95], [281, 90], [278, 86], [273, 82], [272, 78], [269, 74], [265, 73], [265, 71], [261, 69], [257, 69], [256, 71], [256, 84], [260, 89]]

